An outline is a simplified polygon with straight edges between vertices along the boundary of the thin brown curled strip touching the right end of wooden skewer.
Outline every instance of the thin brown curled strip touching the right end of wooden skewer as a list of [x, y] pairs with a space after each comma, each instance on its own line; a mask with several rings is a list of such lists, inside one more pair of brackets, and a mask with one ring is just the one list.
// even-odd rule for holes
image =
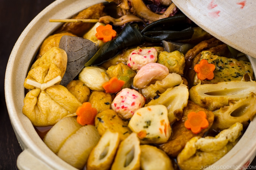
[[125, 23], [129, 23], [129, 22], [143, 22], [144, 23], [144, 21], [141, 18], [139, 18], [133, 14], [124, 15], [124, 16], [118, 18], [117, 20], [120, 20], [120, 21], [116, 21], [115, 18], [110, 17], [110, 16], [104, 16], [104, 17], [100, 17], [99, 22], [104, 23], [106, 25], [113, 23], [114, 26], [122, 26]]

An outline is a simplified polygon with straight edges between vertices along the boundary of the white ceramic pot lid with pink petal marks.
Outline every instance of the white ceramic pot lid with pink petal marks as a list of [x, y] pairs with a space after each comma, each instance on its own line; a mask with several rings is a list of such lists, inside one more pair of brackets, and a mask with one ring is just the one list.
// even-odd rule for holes
[[256, 58], [255, 0], [173, 0], [176, 6], [214, 37]]

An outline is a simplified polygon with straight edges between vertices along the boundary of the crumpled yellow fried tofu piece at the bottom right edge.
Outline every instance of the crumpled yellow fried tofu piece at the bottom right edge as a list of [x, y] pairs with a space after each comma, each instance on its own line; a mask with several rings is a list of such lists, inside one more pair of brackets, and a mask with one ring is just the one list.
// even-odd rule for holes
[[177, 157], [178, 165], [182, 170], [199, 170], [212, 165], [233, 148], [242, 130], [243, 125], [237, 122], [215, 137], [191, 138]]

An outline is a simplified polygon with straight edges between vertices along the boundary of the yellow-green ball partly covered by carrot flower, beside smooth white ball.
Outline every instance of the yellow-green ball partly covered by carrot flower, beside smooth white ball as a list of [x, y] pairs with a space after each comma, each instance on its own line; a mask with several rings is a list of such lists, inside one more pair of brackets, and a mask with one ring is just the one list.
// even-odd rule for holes
[[136, 75], [136, 72], [124, 63], [110, 66], [106, 72], [108, 73], [109, 78], [116, 77], [118, 80], [123, 80], [125, 82], [122, 89], [131, 88], [133, 78]]

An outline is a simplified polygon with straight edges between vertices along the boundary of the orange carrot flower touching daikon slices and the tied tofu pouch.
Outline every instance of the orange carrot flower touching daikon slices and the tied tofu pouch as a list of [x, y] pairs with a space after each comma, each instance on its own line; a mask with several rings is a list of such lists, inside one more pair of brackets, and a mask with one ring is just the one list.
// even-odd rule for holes
[[77, 108], [76, 115], [76, 121], [80, 125], [94, 125], [94, 118], [97, 115], [97, 109], [93, 108], [91, 103], [84, 102], [82, 106]]

